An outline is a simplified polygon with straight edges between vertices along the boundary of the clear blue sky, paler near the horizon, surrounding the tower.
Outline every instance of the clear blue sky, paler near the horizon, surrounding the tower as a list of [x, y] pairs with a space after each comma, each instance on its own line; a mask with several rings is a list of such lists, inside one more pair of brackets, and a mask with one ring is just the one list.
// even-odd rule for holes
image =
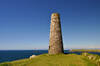
[[0, 50], [48, 49], [55, 12], [65, 49], [100, 48], [100, 0], [0, 0]]

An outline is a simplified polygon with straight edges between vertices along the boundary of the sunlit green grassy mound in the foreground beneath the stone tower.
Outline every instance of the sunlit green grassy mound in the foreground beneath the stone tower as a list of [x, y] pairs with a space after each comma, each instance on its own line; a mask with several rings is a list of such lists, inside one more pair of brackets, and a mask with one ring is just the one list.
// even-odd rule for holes
[[43, 54], [33, 59], [22, 59], [12, 62], [1, 63], [0, 66], [96, 66], [96, 65], [82, 55]]

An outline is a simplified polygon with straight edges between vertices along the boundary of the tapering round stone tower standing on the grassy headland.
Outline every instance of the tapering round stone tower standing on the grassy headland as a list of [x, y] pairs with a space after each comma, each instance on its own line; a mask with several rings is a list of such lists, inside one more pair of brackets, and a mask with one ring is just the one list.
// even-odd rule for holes
[[49, 54], [64, 53], [60, 15], [58, 13], [53, 13], [51, 15], [50, 40], [48, 52]]

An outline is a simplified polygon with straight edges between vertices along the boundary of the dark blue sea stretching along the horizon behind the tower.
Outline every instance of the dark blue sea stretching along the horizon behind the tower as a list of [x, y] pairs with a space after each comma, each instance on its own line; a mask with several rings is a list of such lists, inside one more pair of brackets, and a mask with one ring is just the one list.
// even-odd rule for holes
[[[0, 63], [25, 59], [32, 55], [40, 55], [45, 53], [48, 53], [48, 50], [0, 50]], [[70, 52], [69, 50], [64, 50], [64, 53], [75, 53], [80, 55], [82, 52]], [[100, 55], [100, 52], [89, 53]]]

